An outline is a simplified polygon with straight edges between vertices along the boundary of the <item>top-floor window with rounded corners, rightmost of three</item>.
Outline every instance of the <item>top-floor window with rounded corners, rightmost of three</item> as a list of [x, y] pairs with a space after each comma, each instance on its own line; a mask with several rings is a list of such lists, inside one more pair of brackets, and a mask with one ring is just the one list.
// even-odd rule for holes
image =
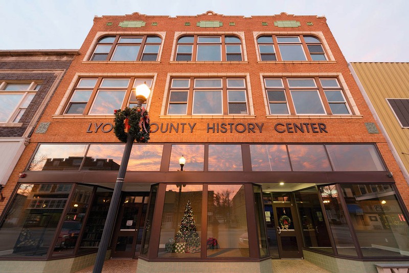
[[257, 38], [262, 61], [326, 61], [321, 41], [315, 36], [263, 35]]

